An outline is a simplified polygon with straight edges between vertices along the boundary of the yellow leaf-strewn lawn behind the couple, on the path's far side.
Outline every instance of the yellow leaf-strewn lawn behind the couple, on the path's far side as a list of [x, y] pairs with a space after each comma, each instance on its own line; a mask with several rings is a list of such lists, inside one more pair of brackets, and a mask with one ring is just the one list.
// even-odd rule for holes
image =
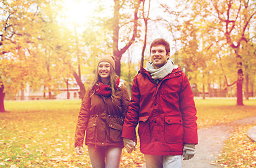
[[[196, 99], [198, 127], [256, 116], [256, 100], [244, 104]], [[91, 167], [86, 146], [82, 156], [74, 150], [80, 100], [7, 101], [5, 107], [8, 112], [0, 113], [0, 167]], [[139, 146], [132, 154], [123, 151], [120, 167], [141, 165]]]

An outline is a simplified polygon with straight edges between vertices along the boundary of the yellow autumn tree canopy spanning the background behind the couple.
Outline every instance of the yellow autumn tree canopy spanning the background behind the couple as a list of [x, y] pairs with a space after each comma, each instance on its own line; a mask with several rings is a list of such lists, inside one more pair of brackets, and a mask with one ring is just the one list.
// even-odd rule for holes
[[[237, 103], [243, 105], [243, 90], [253, 93], [254, 1], [176, 1], [173, 6], [163, 0], [97, 0], [86, 2], [93, 8], [88, 11], [79, 8], [84, 1], [67, 1], [1, 1], [3, 93], [44, 86], [50, 97], [65, 81], [75, 80], [83, 97], [97, 59], [105, 54], [115, 56], [117, 74], [130, 84], [132, 67], [148, 57], [148, 39], [159, 37], [171, 42], [172, 59], [203, 94], [215, 84], [219, 90], [236, 84]], [[127, 61], [122, 55], [135, 57]]]

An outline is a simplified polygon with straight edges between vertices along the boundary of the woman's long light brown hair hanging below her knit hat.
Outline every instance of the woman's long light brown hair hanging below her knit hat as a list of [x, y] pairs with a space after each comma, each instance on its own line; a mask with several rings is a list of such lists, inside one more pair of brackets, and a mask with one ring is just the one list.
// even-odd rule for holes
[[[97, 70], [95, 71], [94, 74], [95, 74], [94, 81], [91, 84], [91, 91], [92, 91], [91, 96], [95, 94], [95, 90], [93, 90], [94, 89], [94, 85], [96, 85], [96, 83], [98, 81], [101, 81], [101, 76], [99, 76], [99, 74], [98, 74], [98, 66], [97, 66]], [[117, 85], [117, 78], [118, 78], [118, 76], [115, 73], [115, 70], [114, 70], [113, 66], [110, 65], [110, 87], [111, 87], [111, 91], [112, 91], [111, 92], [112, 102], [114, 101], [114, 99], [116, 97], [116, 95], [115, 95], [115, 85]]]

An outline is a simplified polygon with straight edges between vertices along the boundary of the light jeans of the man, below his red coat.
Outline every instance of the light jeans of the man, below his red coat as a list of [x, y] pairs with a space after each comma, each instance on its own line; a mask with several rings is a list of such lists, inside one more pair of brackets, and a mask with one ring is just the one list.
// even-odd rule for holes
[[144, 155], [147, 168], [181, 168], [182, 155]]

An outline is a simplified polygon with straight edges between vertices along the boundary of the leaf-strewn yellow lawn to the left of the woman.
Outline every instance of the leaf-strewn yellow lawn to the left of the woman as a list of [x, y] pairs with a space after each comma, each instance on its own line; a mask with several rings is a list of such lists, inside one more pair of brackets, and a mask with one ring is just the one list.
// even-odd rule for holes
[[79, 100], [5, 104], [9, 112], [0, 113], [0, 167], [89, 165], [88, 155], [74, 153]]

